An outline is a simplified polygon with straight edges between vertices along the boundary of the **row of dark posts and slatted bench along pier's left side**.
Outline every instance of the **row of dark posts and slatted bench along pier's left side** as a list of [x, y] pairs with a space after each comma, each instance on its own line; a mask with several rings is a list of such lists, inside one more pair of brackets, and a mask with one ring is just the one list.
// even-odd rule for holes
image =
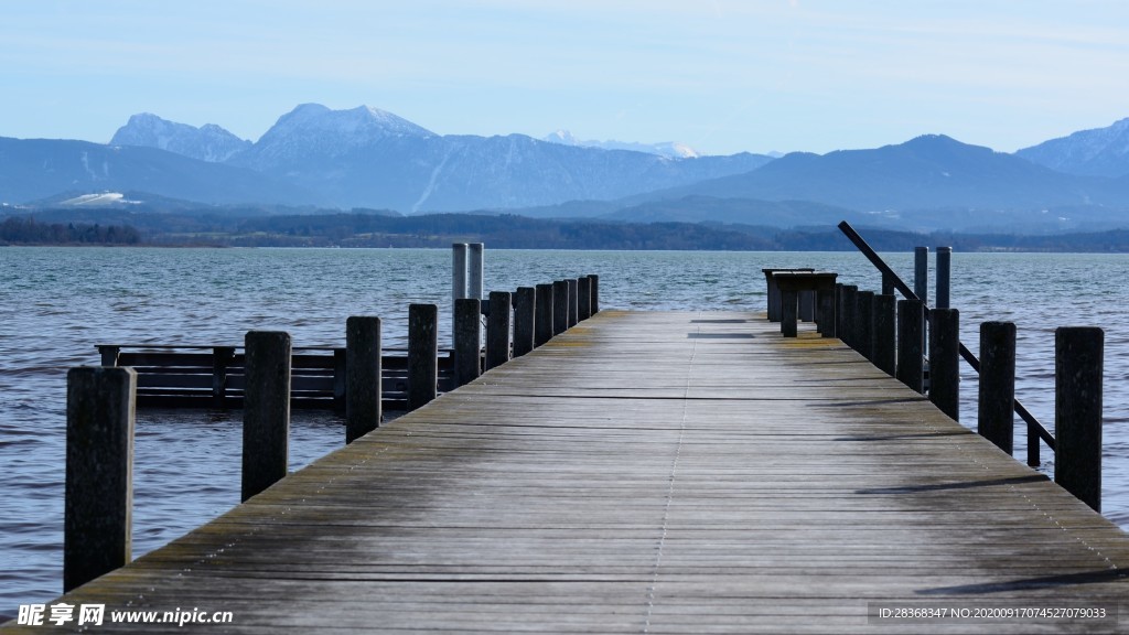
[[[481, 254], [481, 245], [474, 251]], [[351, 443], [379, 427], [390, 384], [403, 393], [392, 403], [403, 406], [396, 409], [420, 408], [595, 315], [598, 294], [598, 277], [590, 275], [487, 299], [456, 298], [449, 350], [437, 346], [438, 307], [413, 304], [406, 356], [382, 350], [376, 316], [345, 321], [345, 348], [299, 348], [286, 331], [255, 330], [242, 347], [98, 345], [102, 366], [68, 373], [63, 591], [131, 559], [133, 428], [142, 395], [163, 397], [149, 403], [165, 407], [243, 408], [246, 501], [287, 473], [292, 406], [343, 410]], [[563, 311], [554, 310], [554, 299]], [[546, 312], [535, 311], [542, 305]], [[549, 323], [536, 323], [543, 320]], [[535, 338], [542, 328], [552, 334]]]

